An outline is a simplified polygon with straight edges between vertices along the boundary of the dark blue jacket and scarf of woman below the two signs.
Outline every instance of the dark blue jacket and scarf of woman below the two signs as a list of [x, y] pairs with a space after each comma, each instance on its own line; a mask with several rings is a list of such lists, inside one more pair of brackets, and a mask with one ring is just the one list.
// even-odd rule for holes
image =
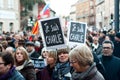
[[72, 80], [69, 62], [56, 64], [53, 71], [53, 80]]

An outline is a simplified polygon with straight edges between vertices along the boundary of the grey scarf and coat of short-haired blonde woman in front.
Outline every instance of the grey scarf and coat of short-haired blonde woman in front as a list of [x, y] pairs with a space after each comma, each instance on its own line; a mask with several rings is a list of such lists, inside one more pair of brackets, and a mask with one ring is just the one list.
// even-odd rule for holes
[[102, 74], [97, 70], [95, 63], [85, 72], [72, 73], [72, 80], [105, 80]]

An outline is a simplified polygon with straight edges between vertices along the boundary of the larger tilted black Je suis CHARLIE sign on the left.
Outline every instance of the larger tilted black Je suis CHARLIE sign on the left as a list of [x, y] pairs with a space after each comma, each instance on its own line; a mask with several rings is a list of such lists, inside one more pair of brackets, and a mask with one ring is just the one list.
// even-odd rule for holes
[[65, 44], [59, 18], [41, 20], [41, 32], [45, 47], [57, 47]]

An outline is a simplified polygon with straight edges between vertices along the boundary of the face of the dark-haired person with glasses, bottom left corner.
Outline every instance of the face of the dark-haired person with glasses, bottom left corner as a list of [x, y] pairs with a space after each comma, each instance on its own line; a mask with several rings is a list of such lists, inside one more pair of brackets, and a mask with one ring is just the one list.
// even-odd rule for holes
[[10, 69], [10, 65], [5, 65], [2, 57], [0, 57], [0, 76], [7, 73]]

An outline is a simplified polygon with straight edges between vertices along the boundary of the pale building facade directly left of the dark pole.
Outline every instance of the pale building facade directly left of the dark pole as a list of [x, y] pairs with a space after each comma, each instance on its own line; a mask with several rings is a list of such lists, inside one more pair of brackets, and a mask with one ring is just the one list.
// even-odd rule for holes
[[96, 27], [109, 30], [114, 28], [114, 0], [96, 0]]

